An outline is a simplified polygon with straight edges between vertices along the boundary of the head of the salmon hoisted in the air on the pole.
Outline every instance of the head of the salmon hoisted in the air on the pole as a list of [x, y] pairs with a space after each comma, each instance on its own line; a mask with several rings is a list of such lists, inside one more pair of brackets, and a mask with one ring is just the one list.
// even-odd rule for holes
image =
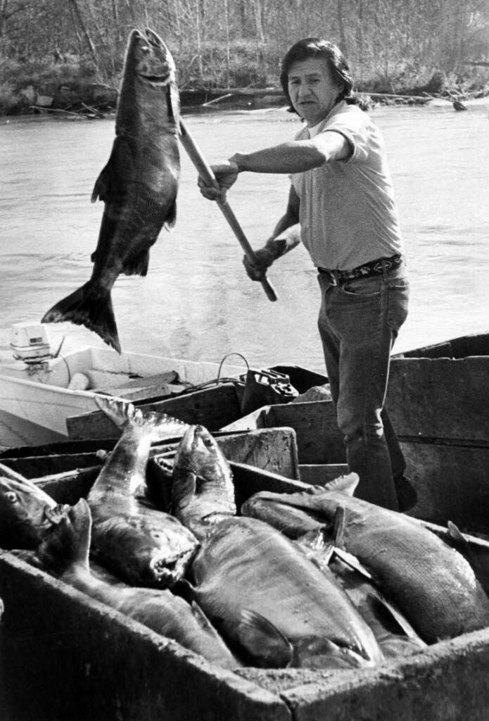
[[131, 68], [145, 84], [164, 86], [176, 81], [175, 61], [153, 30], [133, 30], [127, 41], [126, 71]]

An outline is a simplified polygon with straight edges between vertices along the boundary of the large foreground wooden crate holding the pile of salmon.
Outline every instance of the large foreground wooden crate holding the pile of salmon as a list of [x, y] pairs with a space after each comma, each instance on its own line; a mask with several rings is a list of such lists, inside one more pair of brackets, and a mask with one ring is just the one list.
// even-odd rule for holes
[[[234, 470], [241, 501], [305, 488], [244, 464]], [[41, 485], [72, 502], [73, 482]], [[489, 553], [484, 541], [468, 541]], [[2, 721], [487, 720], [489, 629], [372, 670], [231, 672], [5, 551], [0, 597]]]

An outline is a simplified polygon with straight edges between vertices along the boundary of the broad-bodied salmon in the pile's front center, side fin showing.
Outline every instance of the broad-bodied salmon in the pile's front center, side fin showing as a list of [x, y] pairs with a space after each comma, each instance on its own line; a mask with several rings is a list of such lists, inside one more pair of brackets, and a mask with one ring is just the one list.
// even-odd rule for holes
[[346, 593], [264, 521], [217, 523], [189, 575], [194, 599], [248, 665], [364, 668], [382, 660]]

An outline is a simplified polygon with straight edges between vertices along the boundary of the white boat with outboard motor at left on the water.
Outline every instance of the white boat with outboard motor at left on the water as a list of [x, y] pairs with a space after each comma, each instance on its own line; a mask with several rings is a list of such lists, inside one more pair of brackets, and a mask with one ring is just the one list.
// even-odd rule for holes
[[97, 394], [134, 400], [238, 377], [246, 366], [88, 346], [52, 353], [43, 325], [14, 326], [14, 361], [0, 364], [0, 446], [68, 440], [66, 418], [98, 410]]

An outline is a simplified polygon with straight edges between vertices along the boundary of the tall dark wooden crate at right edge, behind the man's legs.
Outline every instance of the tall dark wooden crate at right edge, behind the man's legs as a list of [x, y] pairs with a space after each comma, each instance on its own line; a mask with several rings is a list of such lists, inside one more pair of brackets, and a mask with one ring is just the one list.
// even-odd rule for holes
[[394, 356], [386, 408], [418, 491], [411, 515], [489, 531], [489, 335]]

